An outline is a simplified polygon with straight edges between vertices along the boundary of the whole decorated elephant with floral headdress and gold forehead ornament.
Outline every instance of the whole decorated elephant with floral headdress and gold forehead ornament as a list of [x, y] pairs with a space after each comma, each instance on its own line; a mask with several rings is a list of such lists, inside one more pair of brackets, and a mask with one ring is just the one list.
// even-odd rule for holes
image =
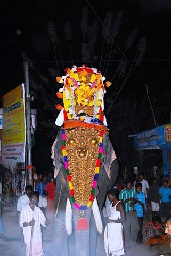
[[[115, 184], [118, 162], [103, 114], [104, 77], [94, 68], [66, 69], [57, 96], [64, 107], [52, 146], [55, 166], [54, 255], [94, 256], [97, 231], [103, 233], [102, 207]], [[64, 81], [63, 81], [64, 79]], [[62, 94], [63, 92], [63, 94]]]

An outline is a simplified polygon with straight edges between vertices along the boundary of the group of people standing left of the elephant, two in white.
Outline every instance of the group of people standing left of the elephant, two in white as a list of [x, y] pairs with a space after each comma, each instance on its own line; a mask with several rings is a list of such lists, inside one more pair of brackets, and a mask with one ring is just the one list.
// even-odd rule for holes
[[[18, 199], [21, 245], [26, 244], [26, 256], [42, 256], [42, 227], [54, 221], [55, 179], [52, 172], [38, 174], [35, 189], [25, 187]], [[34, 191], [35, 190], [35, 191]]]

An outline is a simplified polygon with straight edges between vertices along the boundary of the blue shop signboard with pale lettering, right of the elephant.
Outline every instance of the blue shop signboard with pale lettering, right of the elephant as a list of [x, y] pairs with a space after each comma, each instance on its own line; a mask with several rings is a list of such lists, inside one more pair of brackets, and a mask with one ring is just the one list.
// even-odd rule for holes
[[134, 135], [135, 149], [159, 149], [159, 146], [165, 143], [165, 126], [159, 126]]

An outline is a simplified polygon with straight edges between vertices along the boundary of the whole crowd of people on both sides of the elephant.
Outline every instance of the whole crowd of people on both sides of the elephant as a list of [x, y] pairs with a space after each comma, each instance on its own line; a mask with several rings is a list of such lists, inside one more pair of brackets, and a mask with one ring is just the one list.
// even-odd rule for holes
[[[158, 246], [159, 252], [164, 253], [163, 246], [171, 238], [171, 185], [169, 175], [165, 178], [162, 186], [158, 185], [156, 178], [149, 186], [140, 173], [135, 181], [119, 179], [116, 186], [107, 191], [105, 213], [103, 211], [107, 256], [125, 255], [126, 250], [141, 243], [152, 249]], [[18, 200], [21, 244], [26, 244], [26, 256], [44, 255], [42, 227], [54, 221], [54, 197], [55, 179], [50, 172], [38, 175], [35, 188], [26, 186], [25, 195]], [[163, 217], [168, 217], [165, 228], [161, 221]]]

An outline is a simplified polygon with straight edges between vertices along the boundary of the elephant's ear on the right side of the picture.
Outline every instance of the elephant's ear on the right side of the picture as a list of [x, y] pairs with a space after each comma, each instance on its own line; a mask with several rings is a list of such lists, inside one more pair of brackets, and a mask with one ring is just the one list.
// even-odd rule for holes
[[104, 149], [104, 169], [107, 172], [109, 179], [111, 178], [111, 165], [112, 162], [117, 158], [115, 151], [111, 145], [108, 135], [104, 135], [107, 138], [103, 139], [103, 149]]

